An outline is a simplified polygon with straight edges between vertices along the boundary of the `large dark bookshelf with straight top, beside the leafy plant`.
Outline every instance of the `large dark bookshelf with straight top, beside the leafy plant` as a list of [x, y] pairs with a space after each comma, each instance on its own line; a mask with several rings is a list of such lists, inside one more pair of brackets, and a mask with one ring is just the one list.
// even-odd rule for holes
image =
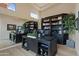
[[41, 27], [43, 30], [49, 30], [50, 36], [54, 37], [57, 40], [58, 44], [66, 44], [68, 39], [68, 33], [64, 28], [64, 16], [68, 14], [58, 14], [49, 17], [42, 18]]

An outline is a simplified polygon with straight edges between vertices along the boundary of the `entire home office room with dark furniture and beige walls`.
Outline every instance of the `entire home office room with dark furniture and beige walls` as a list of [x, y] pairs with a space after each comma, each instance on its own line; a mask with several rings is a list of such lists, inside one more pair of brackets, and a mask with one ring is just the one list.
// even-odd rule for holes
[[0, 56], [78, 56], [78, 3], [0, 3]]

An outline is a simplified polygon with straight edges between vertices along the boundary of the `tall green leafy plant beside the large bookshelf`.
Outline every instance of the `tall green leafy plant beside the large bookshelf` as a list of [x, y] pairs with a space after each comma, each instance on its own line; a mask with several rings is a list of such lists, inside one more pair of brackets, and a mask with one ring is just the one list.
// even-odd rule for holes
[[74, 34], [76, 30], [75, 26], [75, 15], [74, 14], [69, 14], [64, 17], [64, 28], [66, 28], [66, 32], [69, 34]]

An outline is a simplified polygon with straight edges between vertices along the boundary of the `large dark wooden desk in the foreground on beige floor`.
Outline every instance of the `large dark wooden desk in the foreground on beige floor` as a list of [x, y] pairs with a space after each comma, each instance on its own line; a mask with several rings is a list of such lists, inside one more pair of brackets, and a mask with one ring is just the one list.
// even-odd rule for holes
[[40, 44], [45, 44], [48, 46], [48, 56], [52, 56], [55, 55], [57, 52], [57, 45], [56, 45], [56, 41], [50, 37], [46, 37], [46, 38], [30, 38], [30, 37], [24, 37], [25, 39], [23, 39], [22, 42], [22, 47], [24, 47], [24, 43], [27, 43], [27, 47], [25, 49], [27, 50], [31, 50], [33, 52], [35, 52], [37, 55], [40, 55], [40, 51], [39, 48], [41, 47]]

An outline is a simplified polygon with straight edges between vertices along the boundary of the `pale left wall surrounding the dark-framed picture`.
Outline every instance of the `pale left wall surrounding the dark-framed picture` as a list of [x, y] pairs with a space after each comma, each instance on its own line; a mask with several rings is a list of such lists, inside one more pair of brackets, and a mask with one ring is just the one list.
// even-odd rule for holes
[[23, 19], [0, 14], [0, 39], [9, 39], [10, 31], [7, 31], [7, 24], [16, 24], [18, 26], [22, 25], [24, 22]]

